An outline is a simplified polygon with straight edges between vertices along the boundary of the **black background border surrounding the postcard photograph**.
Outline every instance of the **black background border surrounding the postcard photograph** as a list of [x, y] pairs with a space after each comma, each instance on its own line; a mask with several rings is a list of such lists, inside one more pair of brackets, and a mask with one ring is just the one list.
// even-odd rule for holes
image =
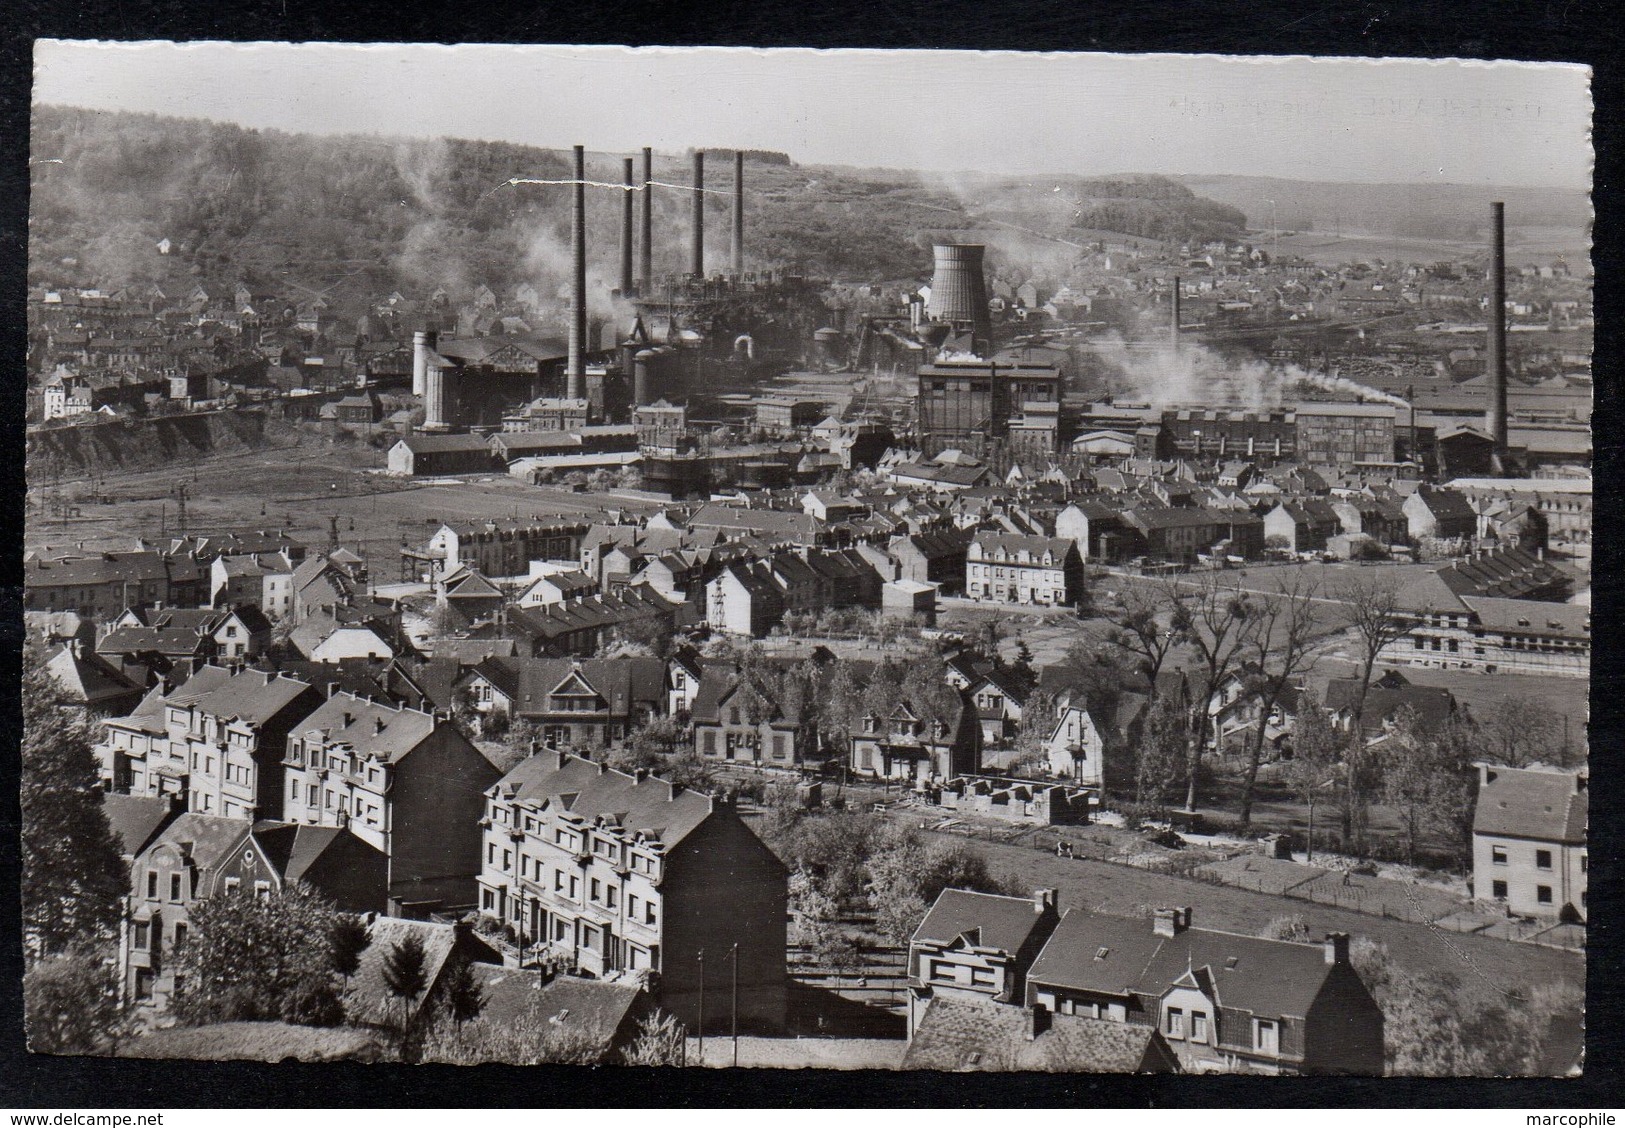
[[[715, 0], [616, 5], [512, 0], [10, 0], [0, 31], [0, 530], [23, 520], [28, 107], [34, 37], [343, 42], [604, 42], [756, 47], [1185, 50], [1581, 62], [1596, 99], [1596, 557], [1588, 1068], [1547, 1079], [1264, 1079], [538, 1066], [250, 1065], [49, 1058], [24, 1052], [18, 917], [21, 548], [0, 554], [0, 1105], [109, 1107], [1617, 1107], [1620, 675], [1617, 645], [1622, 260], [1618, 10], [1596, 0], [1082, 3], [1081, 0]], [[1380, 76], [1378, 76], [1380, 78]], [[931, 112], [921, 91], [916, 112]], [[1042, 109], [1038, 111], [1042, 112]], [[1599, 974], [1601, 972], [1601, 974]]]

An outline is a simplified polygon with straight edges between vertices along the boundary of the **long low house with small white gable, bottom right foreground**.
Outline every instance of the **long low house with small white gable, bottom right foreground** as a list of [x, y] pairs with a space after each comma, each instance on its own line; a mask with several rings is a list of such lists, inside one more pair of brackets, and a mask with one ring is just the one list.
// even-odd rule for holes
[[1190, 1073], [1383, 1073], [1383, 1011], [1346, 933], [1305, 944], [1191, 928], [1190, 909], [1150, 922], [1071, 909], [1025, 1001], [1159, 1029]]

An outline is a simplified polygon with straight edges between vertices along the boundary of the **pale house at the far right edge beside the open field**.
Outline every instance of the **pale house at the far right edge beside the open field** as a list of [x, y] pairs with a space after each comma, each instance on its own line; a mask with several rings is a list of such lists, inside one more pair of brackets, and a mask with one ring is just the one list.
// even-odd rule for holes
[[1586, 920], [1584, 772], [1479, 764], [1472, 894], [1519, 917]]

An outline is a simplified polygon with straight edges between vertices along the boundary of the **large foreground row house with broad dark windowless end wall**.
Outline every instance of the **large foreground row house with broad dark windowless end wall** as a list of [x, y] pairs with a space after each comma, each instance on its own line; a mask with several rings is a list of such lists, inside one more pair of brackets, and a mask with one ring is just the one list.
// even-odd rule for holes
[[546, 751], [486, 790], [483, 822], [479, 910], [522, 959], [653, 972], [694, 1032], [783, 1030], [788, 874], [731, 803]]

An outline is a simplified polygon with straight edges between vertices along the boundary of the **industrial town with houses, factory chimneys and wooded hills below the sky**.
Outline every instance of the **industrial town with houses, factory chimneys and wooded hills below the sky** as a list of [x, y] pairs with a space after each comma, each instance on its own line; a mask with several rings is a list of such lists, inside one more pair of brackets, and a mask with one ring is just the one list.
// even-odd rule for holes
[[63, 89], [34, 1052], [1583, 1069], [1583, 185]]

